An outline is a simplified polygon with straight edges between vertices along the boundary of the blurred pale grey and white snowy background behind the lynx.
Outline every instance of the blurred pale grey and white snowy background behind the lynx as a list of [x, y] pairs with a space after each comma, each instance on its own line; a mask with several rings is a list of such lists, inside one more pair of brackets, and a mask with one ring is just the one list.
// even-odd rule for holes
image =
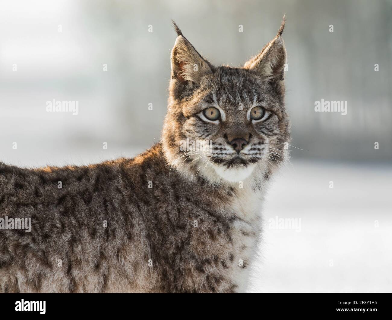
[[[136, 155], [160, 140], [171, 19], [212, 63], [239, 66], [283, 14], [292, 159], [267, 195], [250, 291], [391, 292], [391, 1], [2, 1], [0, 161]], [[53, 99], [78, 115], [47, 112]], [[315, 112], [321, 99], [347, 115]]]

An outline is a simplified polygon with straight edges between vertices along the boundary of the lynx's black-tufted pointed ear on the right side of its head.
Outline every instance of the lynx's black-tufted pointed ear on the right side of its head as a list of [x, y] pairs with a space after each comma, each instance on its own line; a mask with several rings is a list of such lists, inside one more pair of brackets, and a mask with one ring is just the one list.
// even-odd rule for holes
[[251, 58], [244, 65], [245, 69], [249, 69], [250, 72], [254, 72], [272, 83], [279, 93], [284, 91], [284, 68], [287, 59], [285, 42], [282, 38], [284, 27], [285, 17], [283, 16], [276, 37], [267, 43], [257, 56]]

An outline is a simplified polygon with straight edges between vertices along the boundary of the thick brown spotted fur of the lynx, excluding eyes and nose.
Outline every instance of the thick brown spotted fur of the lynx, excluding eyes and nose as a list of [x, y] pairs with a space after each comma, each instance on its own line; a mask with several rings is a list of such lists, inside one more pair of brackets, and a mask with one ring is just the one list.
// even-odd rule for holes
[[[244, 67], [229, 68], [202, 58], [175, 25], [162, 140], [136, 158], [0, 163], [0, 218], [32, 224], [0, 229], [0, 291], [245, 291], [263, 194], [290, 139], [283, 27]], [[211, 106], [218, 121], [203, 116]], [[266, 117], [251, 120], [254, 106]], [[235, 138], [248, 142], [240, 153]], [[184, 149], [187, 139], [212, 149]]]

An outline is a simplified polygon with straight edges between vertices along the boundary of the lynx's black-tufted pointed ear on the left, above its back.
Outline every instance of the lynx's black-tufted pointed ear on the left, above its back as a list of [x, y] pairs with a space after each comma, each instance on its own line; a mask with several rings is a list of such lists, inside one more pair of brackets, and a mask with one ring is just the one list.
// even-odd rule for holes
[[204, 74], [211, 72], [212, 65], [194, 49], [174, 21], [173, 25], [178, 37], [171, 54], [171, 77], [181, 84], [197, 84]]

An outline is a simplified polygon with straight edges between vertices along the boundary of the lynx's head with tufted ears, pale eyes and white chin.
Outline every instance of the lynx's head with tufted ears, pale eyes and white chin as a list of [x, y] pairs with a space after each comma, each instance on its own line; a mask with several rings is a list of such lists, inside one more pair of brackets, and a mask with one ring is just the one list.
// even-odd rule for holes
[[162, 136], [170, 165], [221, 183], [260, 181], [285, 161], [290, 131], [284, 23], [283, 18], [275, 38], [239, 68], [213, 66], [174, 23], [178, 38]]

